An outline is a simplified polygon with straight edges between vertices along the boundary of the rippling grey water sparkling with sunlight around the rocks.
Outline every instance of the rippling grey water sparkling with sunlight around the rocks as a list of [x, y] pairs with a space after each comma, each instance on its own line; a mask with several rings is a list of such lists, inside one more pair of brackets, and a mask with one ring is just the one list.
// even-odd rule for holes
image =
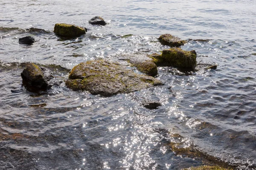
[[[214, 163], [255, 169], [255, 0], [0, 4], [1, 170], [179, 170]], [[97, 15], [109, 24], [91, 26], [88, 20]], [[64, 40], [53, 33], [55, 23], [88, 32]], [[71, 68], [90, 59], [160, 53], [168, 47], [157, 37], [166, 33], [189, 40], [182, 49], [194, 49], [198, 62], [218, 68], [158, 68], [165, 85], [112, 97], [74, 92], [64, 83], [44, 94], [22, 86], [26, 62], [65, 80]], [[20, 45], [18, 38], [28, 35], [36, 42]], [[162, 106], [148, 110], [144, 99]]]

